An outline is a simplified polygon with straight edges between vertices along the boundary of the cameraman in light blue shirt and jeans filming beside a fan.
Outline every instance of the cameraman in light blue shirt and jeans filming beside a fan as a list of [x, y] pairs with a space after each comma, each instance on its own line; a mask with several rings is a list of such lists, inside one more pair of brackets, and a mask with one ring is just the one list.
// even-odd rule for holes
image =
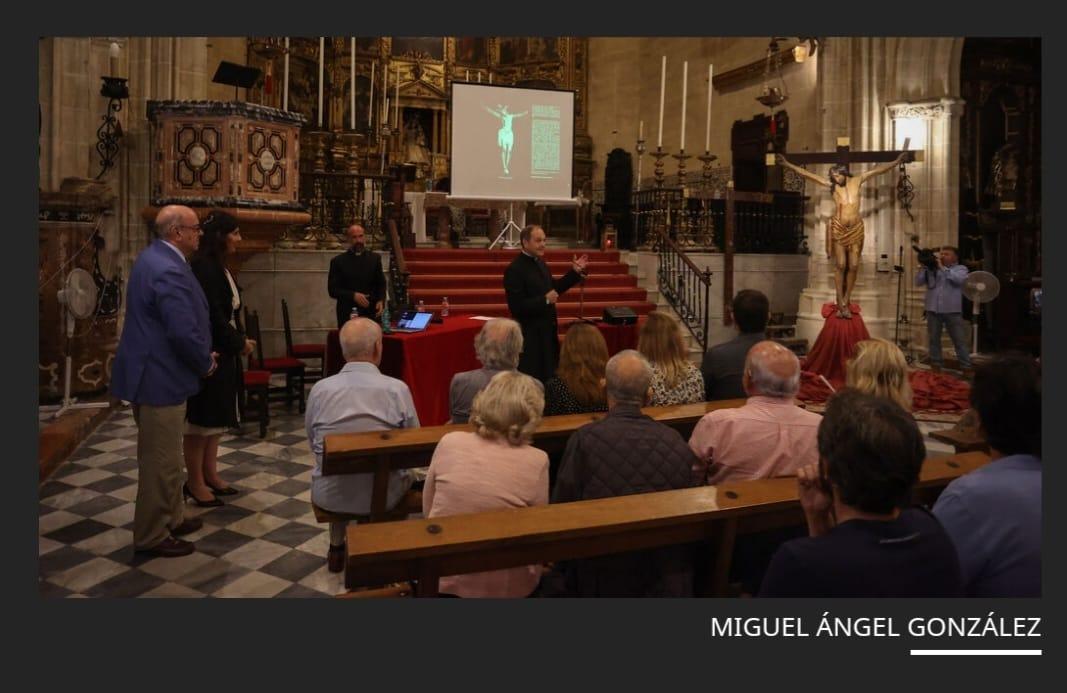
[[959, 367], [966, 375], [972, 369], [968, 326], [960, 310], [967, 267], [959, 264], [959, 253], [952, 246], [942, 247], [936, 259], [936, 264], [920, 268], [915, 274], [915, 286], [926, 287], [930, 367], [935, 372], [941, 369], [941, 326], [944, 325], [949, 328]]

